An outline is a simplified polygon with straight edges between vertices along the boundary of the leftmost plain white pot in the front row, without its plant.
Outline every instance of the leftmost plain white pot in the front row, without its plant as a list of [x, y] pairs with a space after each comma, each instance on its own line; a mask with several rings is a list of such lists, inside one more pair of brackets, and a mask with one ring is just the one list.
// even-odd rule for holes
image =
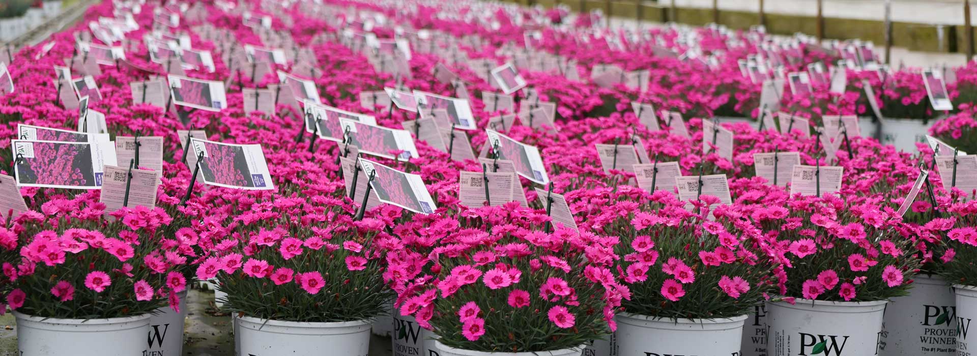
[[149, 314], [111, 319], [54, 319], [14, 312], [18, 355], [142, 356]]

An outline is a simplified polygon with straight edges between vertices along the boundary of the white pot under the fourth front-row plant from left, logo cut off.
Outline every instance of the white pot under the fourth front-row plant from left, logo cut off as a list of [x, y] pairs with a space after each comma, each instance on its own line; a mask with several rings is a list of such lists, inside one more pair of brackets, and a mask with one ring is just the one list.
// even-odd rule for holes
[[617, 314], [617, 354], [739, 355], [745, 320], [745, 315], [720, 319], [672, 319]]

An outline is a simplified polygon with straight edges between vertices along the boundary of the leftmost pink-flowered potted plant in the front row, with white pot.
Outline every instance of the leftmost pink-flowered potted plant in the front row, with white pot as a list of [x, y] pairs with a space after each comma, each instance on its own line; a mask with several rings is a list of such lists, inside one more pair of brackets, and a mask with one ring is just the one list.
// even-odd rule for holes
[[3, 268], [14, 280], [7, 303], [21, 353], [146, 352], [150, 314], [177, 305], [187, 287], [174, 272], [186, 257], [159, 229], [170, 217], [137, 207], [104, 218], [97, 193], [69, 199], [52, 189], [33, 199], [42, 213], [16, 219], [20, 258]]

